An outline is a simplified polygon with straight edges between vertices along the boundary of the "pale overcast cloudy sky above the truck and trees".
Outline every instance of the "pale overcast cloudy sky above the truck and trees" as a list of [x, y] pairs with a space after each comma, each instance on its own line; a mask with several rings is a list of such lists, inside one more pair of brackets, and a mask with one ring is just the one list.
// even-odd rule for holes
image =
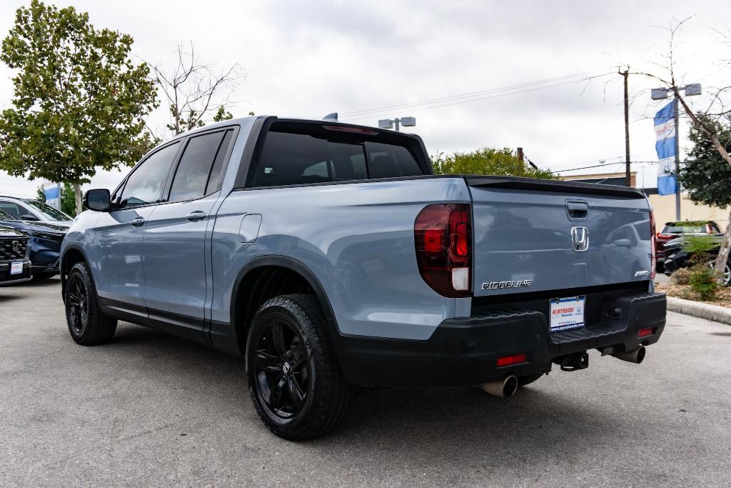
[[[0, 2], [3, 36], [25, 3]], [[97, 28], [131, 34], [135, 55], [154, 64], [172, 63], [175, 45], [189, 41], [205, 63], [239, 64], [246, 78], [234, 96], [235, 116], [254, 110], [319, 119], [439, 99], [341, 120], [376, 125], [415, 116], [417, 127], [409, 131], [423, 137], [431, 154], [523, 146], [533, 162], [553, 170], [606, 161], [606, 168], [578, 173], [622, 170], [617, 67], [662, 74], [655, 64], [665, 63], [669, 34], [663, 28], [673, 20], [694, 15], [676, 57], [686, 83], [701, 82], [708, 93], [730, 78], [721, 62], [731, 59], [721, 36], [731, 18], [725, 0], [57, 3], [68, 4], [89, 12]], [[0, 108], [10, 106], [12, 74], [0, 64]], [[577, 75], [598, 78], [586, 82]], [[533, 82], [542, 83], [526, 84]], [[656, 161], [649, 117], [662, 102], [650, 100], [648, 89], [657, 83], [639, 75], [629, 83], [632, 159]], [[491, 91], [517, 85], [524, 86]], [[484, 93], [457, 97], [476, 92]], [[700, 107], [703, 99], [692, 100]], [[162, 127], [163, 116], [151, 123]], [[637, 183], [654, 186], [655, 168], [637, 165], [643, 173]], [[92, 186], [114, 187], [121, 176], [99, 173]], [[0, 193], [34, 195], [38, 185], [0, 173]]]

